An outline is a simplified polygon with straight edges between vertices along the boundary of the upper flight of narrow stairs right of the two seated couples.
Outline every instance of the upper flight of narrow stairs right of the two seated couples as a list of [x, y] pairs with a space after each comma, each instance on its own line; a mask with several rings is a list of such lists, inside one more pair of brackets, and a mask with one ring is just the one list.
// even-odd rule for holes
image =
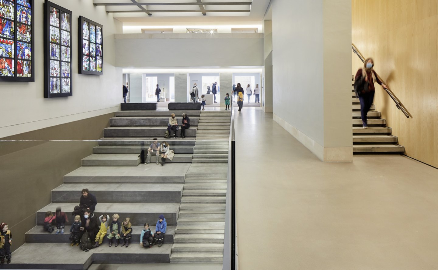
[[201, 111], [192, 163], [228, 163], [230, 111]]

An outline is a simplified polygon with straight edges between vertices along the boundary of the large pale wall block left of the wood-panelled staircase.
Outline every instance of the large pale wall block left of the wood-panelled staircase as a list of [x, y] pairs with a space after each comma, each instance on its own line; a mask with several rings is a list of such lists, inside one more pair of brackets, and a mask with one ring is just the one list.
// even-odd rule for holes
[[351, 1], [274, 0], [272, 48], [274, 120], [321, 160], [351, 161]]

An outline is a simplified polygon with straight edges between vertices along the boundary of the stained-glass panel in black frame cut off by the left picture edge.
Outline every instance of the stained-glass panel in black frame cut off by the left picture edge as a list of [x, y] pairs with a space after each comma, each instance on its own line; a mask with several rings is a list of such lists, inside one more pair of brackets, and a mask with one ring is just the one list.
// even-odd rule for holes
[[33, 0], [0, 0], [0, 81], [35, 81], [33, 5]]

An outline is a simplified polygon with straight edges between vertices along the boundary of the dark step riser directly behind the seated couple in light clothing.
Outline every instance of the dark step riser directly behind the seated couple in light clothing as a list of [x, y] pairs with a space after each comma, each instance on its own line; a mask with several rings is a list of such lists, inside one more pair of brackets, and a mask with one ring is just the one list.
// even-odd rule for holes
[[[148, 149], [149, 145], [99, 145], [93, 148], [94, 154], [140, 154], [141, 150]], [[175, 154], [193, 154], [191, 145], [172, 145]]]

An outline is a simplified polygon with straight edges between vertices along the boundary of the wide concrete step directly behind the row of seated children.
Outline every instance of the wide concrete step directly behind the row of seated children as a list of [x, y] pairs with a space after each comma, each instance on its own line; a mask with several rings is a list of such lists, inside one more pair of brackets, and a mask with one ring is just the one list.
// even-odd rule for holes
[[[142, 226], [145, 222], [149, 224], [156, 224], [159, 215], [164, 215], [167, 221], [167, 225], [174, 226], [177, 224], [178, 212], [180, 204], [163, 204], [163, 203], [99, 203], [99, 198], [96, 198], [98, 203], [94, 214], [99, 217], [103, 214], [112, 216], [114, 213], [119, 214], [120, 219], [131, 218], [132, 225]], [[75, 203], [52, 203], [36, 212], [37, 225], [43, 225], [44, 218], [47, 211], [55, 212], [57, 207], [61, 207], [62, 211], [67, 213], [68, 222], [66, 224], [72, 224], [72, 216], [70, 215], [74, 207], [79, 204]]]

